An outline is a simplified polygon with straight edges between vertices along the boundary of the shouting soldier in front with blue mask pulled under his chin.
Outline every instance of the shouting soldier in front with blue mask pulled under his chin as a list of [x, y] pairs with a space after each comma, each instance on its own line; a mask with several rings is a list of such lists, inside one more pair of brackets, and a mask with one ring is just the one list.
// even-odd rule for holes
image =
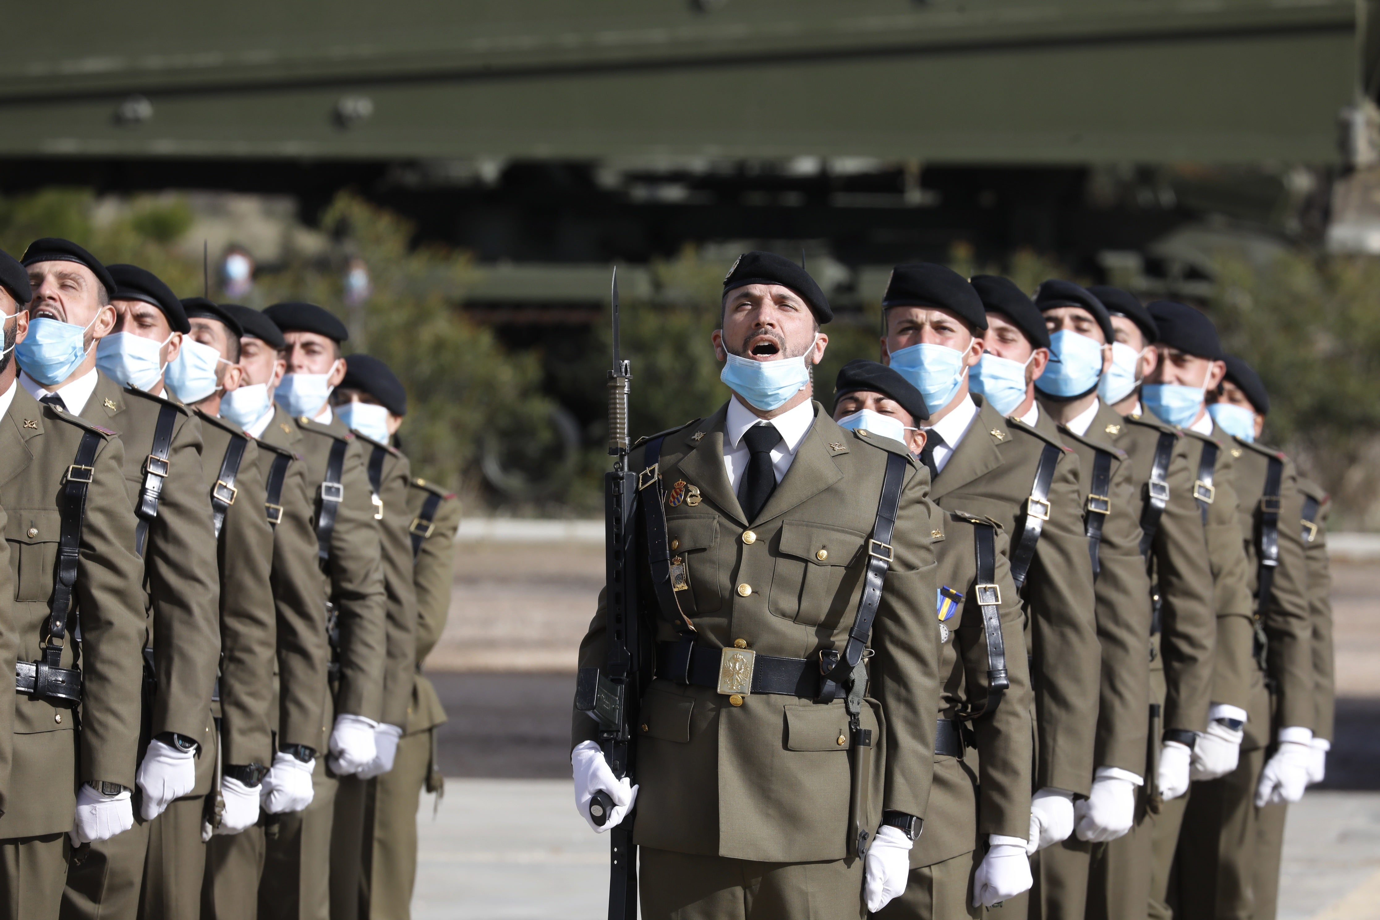
[[[905, 446], [845, 430], [810, 399], [810, 366], [828, 345], [818, 328], [831, 316], [802, 268], [742, 255], [724, 279], [713, 334], [734, 396], [629, 458], [629, 469], [658, 473], [643, 499], [665, 509], [687, 582], [676, 622], [694, 630], [644, 611], [657, 677], [642, 699], [638, 790], [614, 778], [596, 723], [578, 710], [571, 766], [586, 821], [596, 792], [615, 803], [606, 826], [636, 800], [649, 920], [862, 917], [905, 888], [930, 793], [940, 663], [930, 541], [943, 524]], [[890, 550], [876, 556], [868, 541], [886, 532], [878, 512], [889, 469], [900, 503]], [[846, 650], [874, 557], [889, 563], [860, 713], [879, 746], [858, 777], [871, 806], [853, 815], [875, 832], [864, 861], [849, 830], [846, 677], [827, 663], [840, 683], [821, 687], [821, 652]], [[600, 600], [581, 666], [603, 669], [604, 643]], [[753, 669], [751, 692], [716, 692], [723, 652], [734, 650], [778, 661]]]

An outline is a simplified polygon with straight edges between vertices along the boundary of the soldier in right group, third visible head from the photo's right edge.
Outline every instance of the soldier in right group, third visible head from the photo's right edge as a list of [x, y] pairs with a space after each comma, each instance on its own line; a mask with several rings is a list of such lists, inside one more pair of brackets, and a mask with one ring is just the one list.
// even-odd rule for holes
[[[1159, 604], [1148, 634], [1151, 702], [1141, 767], [1147, 782], [1137, 789], [1130, 832], [1093, 851], [1087, 916], [1110, 919], [1138, 914], [1150, 902], [1154, 825], [1163, 799], [1156, 772], [1167, 763], [1159, 754], [1166, 737], [1181, 743], [1184, 732], [1206, 726], [1217, 622], [1187, 439], [1140, 404], [1140, 382], [1159, 359], [1154, 348], [1159, 331], [1150, 312], [1126, 291], [1101, 286], [1089, 292], [1107, 306], [1115, 332], [1111, 367], [1098, 394], [1110, 408], [1127, 412], [1125, 418], [1100, 418], [1089, 429], [1100, 428], [1126, 451], [1133, 513], [1143, 530], [1141, 553]], [[1169, 792], [1176, 782], [1183, 786], [1181, 772], [1166, 775]]]

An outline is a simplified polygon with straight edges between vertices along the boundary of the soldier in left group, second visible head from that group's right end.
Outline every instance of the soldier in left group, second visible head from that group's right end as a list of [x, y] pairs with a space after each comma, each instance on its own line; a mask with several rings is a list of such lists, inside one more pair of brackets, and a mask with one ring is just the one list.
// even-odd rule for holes
[[[322, 603], [333, 610], [333, 676], [317, 745], [298, 752], [313, 763], [312, 801], [269, 829], [259, 884], [264, 917], [330, 914], [330, 846], [337, 778], [377, 754], [384, 709], [386, 621], [375, 505], [359, 440], [334, 417], [328, 399], [345, 377], [345, 326], [312, 303], [277, 303], [265, 316], [286, 341], [287, 374], [275, 390], [277, 414], [264, 440], [299, 454], [315, 497]], [[327, 749], [327, 759], [316, 753]]]

